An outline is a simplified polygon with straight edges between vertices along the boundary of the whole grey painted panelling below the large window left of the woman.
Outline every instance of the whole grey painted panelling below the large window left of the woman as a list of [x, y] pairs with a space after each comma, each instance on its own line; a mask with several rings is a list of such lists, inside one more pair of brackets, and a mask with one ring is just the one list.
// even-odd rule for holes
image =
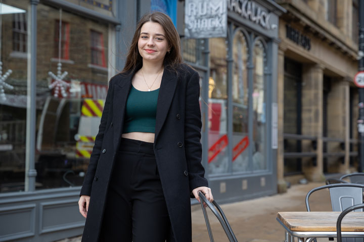
[[0, 194], [0, 241], [48, 242], [81, 235], [85, 219], [78, 211], [79, 190]]

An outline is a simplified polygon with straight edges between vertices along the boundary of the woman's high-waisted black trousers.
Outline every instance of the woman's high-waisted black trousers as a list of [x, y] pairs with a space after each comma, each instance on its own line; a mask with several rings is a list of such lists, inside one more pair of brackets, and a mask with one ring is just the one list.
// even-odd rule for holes
[[170, 230], [153, 143], [121, 138], [100, 241], [164, 242]]

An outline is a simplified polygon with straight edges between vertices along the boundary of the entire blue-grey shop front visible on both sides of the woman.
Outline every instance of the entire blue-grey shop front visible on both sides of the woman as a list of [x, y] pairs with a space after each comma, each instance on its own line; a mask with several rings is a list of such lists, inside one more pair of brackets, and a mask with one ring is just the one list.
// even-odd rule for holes
[[[162, 2], [2, 1], [0, 241], [82, 233], [77, 201], [108, 80], [123, 68], [136, 20]], [[231, 0], [226, 38], [181, 34], [184, 60], [200, 73], [202, 162], [221, 203], [277, 192], [283, 12], [273, 1]]]

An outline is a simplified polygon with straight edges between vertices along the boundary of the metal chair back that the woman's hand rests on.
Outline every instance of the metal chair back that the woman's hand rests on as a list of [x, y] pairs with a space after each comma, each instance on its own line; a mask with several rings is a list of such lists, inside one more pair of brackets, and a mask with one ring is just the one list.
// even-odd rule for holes
[[[205, 217], [205, 222], [206, 222], [206, 226], [207, 226], [207, 231], [209, 233], [209, 237], [210, 237], [210, 241], [214, 242], [213, 236], [212, 236], [212, 231], [211, 231], [211, 226], [210, 226], [210, 222], [208, 219], [208, 215], [206, 212], [206, 208], [204, 207], [203, 203], [205, 202], [205, 204], [207, 205], [207, 207], [209, 207], [212, 211], [212, 213], [216, 216], [216, 218], [218, 219], [218, 221], [220, 222], [223, 230], [226, 233], [226, 236], [228, 236], [229, 241], [230, 242], [238, 242], [237, 238], [235, 237], [235, 234], [228, 222], [228, 219], [226, 219], [225, 214], [222, 212], [222, 209], [220, 208], [220, 206], [213, 201], [212, 203], [210, 203], [207, 198], [205, 197], [205, 195], [203, 195], [201, 192], [199, 192], [199, 197], [200, 197], [200, 202], [201, 202], [201, 207], [202, 207], [202, 212], [204, 214]], [[216, 210], [216, 208], [218, 210]]]

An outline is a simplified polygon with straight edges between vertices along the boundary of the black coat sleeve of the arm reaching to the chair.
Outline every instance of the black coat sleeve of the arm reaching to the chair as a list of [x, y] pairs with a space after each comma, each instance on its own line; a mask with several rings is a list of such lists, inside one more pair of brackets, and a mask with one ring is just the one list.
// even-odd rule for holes
[[[185, 106], [185, 153], [189, 172], [190, 192], [198, 187], [207, 187], [205, 169], [201, 164], [201, 110], [199, 103], [199, 75], [194, 72], [187, 80]], [[191, 197], [194, 197], [191, 195]]]

